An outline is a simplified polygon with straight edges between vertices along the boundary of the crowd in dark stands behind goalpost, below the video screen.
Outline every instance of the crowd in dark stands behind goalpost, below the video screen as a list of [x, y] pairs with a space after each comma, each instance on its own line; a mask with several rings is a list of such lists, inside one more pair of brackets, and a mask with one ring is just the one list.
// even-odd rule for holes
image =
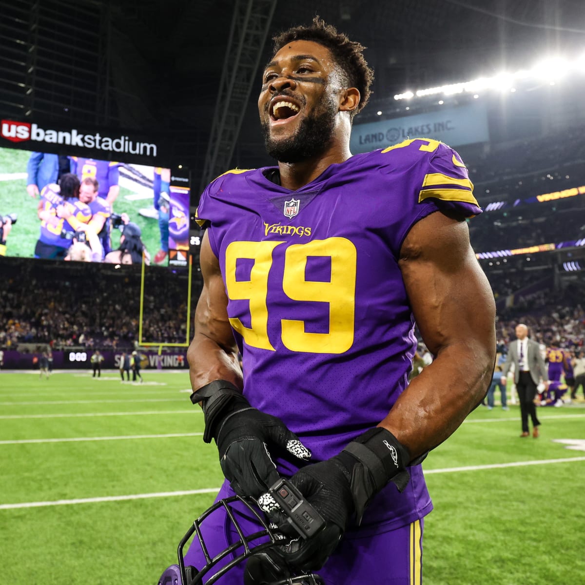
[[[5, 260], [4, 268], [9, 266]], [[16, 261], [13, 268], [17, 266]], [[133, 267], [100, 271], [92, 264], [68, 269], [42, 261], [18, 262], [4, 271], [0, 288], [0, 347], [19, 343], [61, 347], [133, 347], [139, 333], [140, 271]], [[186, 278], [149, 278], [145, 282], [143, 340], [185, 342]]]

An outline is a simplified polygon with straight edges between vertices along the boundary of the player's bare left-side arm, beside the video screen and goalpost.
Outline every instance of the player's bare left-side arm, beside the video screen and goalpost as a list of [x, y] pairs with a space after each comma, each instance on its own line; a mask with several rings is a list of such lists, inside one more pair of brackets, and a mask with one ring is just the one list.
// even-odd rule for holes
[[228, 297], [207, 232], [201, 243], [200, 261], [203, 291], [195, 309], [195, 333], [187, 350], [191, 386], [197, 390], [214, 380], [227, 380], [243, 388], [238, 346], [228, 320]]

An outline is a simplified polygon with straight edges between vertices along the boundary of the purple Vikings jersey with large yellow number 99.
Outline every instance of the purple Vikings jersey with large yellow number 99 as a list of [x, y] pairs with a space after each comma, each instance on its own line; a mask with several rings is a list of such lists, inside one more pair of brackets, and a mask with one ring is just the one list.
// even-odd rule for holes
[[[270, 171], [218, 177], [197, 218], [221, 266], [243, 392], [318, 462], [376, 426], [407, 386], [416, 339], [398, 259], [409, 229], [435, 211], [481, 209], [459, 155], [431, 139], [357, 154], [297, 191]], [[404, 493], [390, 483], [374, 498], [362, 529], [431, 510], [420, 466], [411, 477]]]

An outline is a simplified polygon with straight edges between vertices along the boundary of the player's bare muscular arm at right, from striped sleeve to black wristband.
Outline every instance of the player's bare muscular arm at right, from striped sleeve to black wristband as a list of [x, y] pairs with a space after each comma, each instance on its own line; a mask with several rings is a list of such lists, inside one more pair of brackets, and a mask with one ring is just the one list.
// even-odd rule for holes
[[419, 221], [400, 268], [422, 338], [435, 356], [380, 426], [414, 459], [445, 441], [486, 394], [494, 371], [495, 303], [464, 221], [440, 212]]

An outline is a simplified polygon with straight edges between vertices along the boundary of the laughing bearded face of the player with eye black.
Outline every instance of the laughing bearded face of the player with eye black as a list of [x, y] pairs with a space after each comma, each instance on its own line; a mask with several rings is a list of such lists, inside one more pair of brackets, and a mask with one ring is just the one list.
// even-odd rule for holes
[[258, 99], [270, 156], [297, 163], [326, 150], [343, 100], [343, 77], [329, 49], [312, 41], [288, 43], [274, 55]]

